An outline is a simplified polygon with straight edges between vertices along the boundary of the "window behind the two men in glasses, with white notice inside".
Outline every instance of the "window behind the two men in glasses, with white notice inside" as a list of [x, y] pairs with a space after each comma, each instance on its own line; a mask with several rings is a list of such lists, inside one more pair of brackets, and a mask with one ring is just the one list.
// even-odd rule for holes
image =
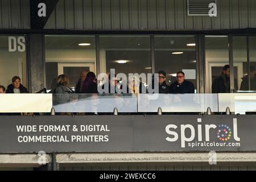
[[155, 36], [155, 72], [160, 70], [167, 73], [168, 85], [183, 71], [196, 88], [195, 36]]

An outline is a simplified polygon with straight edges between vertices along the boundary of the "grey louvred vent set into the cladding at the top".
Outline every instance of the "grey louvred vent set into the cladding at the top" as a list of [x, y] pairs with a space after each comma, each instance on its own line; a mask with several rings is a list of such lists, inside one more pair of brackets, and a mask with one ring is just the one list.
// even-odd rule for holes
[[216, 0], [187, 0], [188, 16], [208, 16], [210, 3], [216, 3]]

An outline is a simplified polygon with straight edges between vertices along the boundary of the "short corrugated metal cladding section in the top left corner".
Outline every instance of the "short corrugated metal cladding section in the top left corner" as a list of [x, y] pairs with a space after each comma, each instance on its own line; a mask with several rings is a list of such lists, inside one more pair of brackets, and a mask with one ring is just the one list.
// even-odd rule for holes
[[30, 28], [30, 0], [0, 0], [0, 28]]

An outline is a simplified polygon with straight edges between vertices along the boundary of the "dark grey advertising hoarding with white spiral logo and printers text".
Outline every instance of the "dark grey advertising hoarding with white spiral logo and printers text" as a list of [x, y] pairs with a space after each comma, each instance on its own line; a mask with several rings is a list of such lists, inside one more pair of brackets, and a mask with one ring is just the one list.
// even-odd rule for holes
[[1, 116], [0, 152], [256, 151], [255, 115]]

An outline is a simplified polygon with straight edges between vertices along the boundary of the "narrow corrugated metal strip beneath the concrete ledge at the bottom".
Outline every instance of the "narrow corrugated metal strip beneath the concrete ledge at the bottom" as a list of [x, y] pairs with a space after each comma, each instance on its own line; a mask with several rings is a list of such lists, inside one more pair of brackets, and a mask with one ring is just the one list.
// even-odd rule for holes
[[255, 171], [256, 166], [97, 166], [60, 167], [60, 171]]

